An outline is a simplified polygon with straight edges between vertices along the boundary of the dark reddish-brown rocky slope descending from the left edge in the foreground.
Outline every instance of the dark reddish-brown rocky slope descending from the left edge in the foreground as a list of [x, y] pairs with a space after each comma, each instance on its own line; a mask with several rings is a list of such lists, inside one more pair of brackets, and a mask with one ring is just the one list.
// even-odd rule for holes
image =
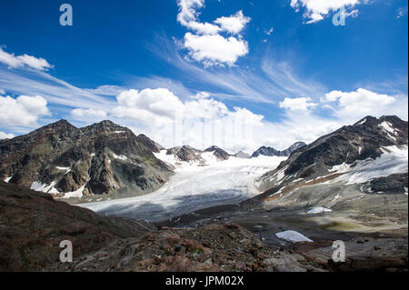
[[0, 271], [36, 271], [54, 264], [63, 240], [73, 243], [77, 258], [116, 239], [137, 238], [154, 229], [0, 182]]

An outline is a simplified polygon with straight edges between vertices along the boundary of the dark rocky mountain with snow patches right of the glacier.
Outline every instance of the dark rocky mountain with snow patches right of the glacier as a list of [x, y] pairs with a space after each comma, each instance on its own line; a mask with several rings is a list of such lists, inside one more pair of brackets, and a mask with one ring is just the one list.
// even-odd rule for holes
[[390, 161], [390, 167], [394, 167], [394, 152], [403, 155], [404, 160], [407, 144], [407, 122], [396, 116], [379, 119], [367, 116], [354, 125], [343, 126], [298, 149], [274, 171], [263, 175], [259, 180], [260, 187], [267, 190], [295, 180], [308, 181], [328, 175], [344, 175], [350, 170], [354, 171], [354, 167], [355, 171], [369, 171], [371, 162], [381, 155], [387, 159], [380, 160], [381, 164]]

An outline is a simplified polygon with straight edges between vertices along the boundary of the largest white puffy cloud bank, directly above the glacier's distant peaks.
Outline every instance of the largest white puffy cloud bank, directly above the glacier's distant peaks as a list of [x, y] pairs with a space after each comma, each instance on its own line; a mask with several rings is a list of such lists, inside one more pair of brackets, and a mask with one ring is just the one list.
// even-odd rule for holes
[[[263, 125], [263, 115], [234, 107], [209, 98], [180, 98], [165, 88], [142, 91], [129, 90], [117, 96], [118, 106], [112, 115], [141, 128], [146, 135], [167, 147], [193, 145], [205, 148], [220, 145], [227, 150], [253, 148], [257, 144], [250, 136], [254, 127]], [[247, 129], [245, 129], [247, 128]]]

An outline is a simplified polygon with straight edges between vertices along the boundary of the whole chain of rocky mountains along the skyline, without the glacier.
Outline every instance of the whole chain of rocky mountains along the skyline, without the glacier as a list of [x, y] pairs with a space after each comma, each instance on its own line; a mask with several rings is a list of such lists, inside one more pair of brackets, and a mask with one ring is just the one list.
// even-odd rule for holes
[[161, 160], [161, 152], [177, 163], [197, 165], [207, 165], [208, 154], [217, 161], [232, 156], [289, 156], [257, 181], [260, 190], [268, 190], [278, 181], [284, 185], [314, 179], [327, 175], [335, 165], [376, 159], [391, 145], [407, 145], [407, 122], [396, 116], [366, 116], [310, 145], [297, 142], [283, 151], [262, 146], [251, 156], [230, 155], [215, 145], [205, 150], [189, 145], [165, 149], [146, 135], [135, 135], [110, 121], [76, 128], [61, 120], [28, 135], [1, 140], [0, 177], [55, 197], [117, 198], [144, 195], [165, 184], [175, 166]]

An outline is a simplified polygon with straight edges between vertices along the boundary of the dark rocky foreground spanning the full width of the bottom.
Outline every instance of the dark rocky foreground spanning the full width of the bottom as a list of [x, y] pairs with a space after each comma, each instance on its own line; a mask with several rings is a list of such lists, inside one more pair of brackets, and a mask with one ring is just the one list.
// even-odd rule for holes
[[[0, 271], [407, 271], [407, 237], [350, 238], [343, 264], [331, 259], [335, 238], [272, 245], [220, 218], [197, 227], [157, 228], [0, 185]], [[73, 243], [73, 263], [59, 262], [62, 240]]]

